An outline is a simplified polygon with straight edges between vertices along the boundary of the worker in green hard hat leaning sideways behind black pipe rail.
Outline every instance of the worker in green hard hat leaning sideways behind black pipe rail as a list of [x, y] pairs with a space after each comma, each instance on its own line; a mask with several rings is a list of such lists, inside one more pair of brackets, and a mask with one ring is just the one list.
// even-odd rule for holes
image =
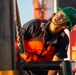
[[[76, 24], [76, 9], [58, 8], [49, 20], [32, 19], [22, 27], [26, 62], [63, 61], [67, 58], [69, 37], [65, 29], [72, 32]], [[26, 71], [25, 75], [56, 75], [57, 70]]]

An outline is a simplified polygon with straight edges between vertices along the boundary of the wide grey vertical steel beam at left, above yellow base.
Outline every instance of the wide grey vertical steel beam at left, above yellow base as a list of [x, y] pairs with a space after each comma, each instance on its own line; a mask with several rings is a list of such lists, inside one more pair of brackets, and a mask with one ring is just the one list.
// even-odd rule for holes
[[13, 0], [0, 0], [0, 70], [15, 70]]

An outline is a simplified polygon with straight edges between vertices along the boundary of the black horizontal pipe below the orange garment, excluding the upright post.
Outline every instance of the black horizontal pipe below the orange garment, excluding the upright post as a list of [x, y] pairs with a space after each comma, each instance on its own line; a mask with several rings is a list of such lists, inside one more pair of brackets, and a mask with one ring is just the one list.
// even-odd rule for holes
[[23, 70], [61, 70], [61, 62], [22, 62], [22, 65]]

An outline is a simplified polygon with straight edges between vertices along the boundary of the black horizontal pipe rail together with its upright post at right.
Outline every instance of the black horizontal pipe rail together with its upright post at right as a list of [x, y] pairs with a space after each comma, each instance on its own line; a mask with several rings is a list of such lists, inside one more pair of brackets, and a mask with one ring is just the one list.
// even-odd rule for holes
[[23, 70], [62, 70], [63, 75], [72, 75], [72, 62], [51, 61], [51, 62], [23, 62]]

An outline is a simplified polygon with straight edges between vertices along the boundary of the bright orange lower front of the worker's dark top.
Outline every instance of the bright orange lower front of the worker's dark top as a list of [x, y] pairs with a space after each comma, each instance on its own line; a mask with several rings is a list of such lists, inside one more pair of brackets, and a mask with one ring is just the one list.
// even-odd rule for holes
[[49, 45], [44, 49], [44, 42], [41, 41], [24, 41], [27, 62], [49, 62], [52, 60], [55, 48]]

